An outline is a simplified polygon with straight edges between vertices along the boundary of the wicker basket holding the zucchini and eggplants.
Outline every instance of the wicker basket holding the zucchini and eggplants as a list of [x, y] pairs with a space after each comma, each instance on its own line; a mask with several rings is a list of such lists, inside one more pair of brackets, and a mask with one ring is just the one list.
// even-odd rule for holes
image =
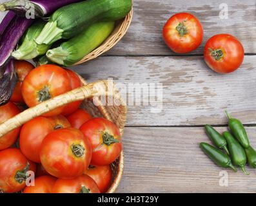
[[130, 11], [128, 15], [124, 18], [123, 21], [120, 21], [117, 23], [115, 26], [115, 30], [113, 30], [112, 34], [106, 39], [101, 46], [96, 48], [94, 51], [86, 55], [81, 61], [75, 63], [74, 65], [77, 64], [82, 64], [84, 62], [90, 61], [92, 59], [95, 59], [96, 57], [99, 57], [99, 55], [103, 54], [104, 52], [107, 52], [110, 50], [117, 42], [119, 42], [124, 34], [127, 32], [131, 22], [132, 22], [132, 16], [133, 16], [133, 8]]

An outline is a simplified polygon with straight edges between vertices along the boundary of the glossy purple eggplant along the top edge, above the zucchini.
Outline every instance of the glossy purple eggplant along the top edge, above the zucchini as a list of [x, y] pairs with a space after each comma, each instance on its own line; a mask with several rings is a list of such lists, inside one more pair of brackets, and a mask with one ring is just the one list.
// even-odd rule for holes
[[[12, 10], [17, 15], [25, 16], [30, 12], [31, 16], [43, 17], [46, 14], [51, 14], [57, 8], [70, 5], [81, 0], [14, 0], [2, 3], [0, 11]], [[34, 8], [34, 9], [33, 9]]]

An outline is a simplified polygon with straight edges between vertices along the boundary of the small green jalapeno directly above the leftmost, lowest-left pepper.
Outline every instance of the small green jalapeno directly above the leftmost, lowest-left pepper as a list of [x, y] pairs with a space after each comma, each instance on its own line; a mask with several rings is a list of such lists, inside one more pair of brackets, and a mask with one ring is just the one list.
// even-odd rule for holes
[[224, 149], [226, 153], [230, 154], [228, 152], [227, 148], [227, 142], [224, 136], [222, 136], [220, 133], [218, 133], [212, 126], [206, 124], [204, 126], [207, 135], [209, 136], [210, 140], [212, 140], [213, 144], [215, 144], [219, 149]]

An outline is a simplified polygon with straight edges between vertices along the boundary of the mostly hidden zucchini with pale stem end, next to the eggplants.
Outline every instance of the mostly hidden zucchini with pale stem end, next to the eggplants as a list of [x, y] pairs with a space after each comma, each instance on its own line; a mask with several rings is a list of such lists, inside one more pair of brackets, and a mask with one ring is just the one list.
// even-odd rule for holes
[[37, 44], [34, 39], [38, 37], [38, 35], [43, 30], [45, 24], [47, 22], [39, 19], [36, 21], [30, 28], [28, 28], [27, 32], [23, 36], [21, 46], [12, 52], [12, 56], [15, 59], [33, 59], [38, 55], [43, 55], [50, 48], [50, 45], [47, 44]]

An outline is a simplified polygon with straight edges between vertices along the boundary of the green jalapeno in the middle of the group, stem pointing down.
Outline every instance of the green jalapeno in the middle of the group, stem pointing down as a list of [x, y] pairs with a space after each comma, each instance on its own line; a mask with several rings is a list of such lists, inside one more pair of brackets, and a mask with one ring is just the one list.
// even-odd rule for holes
[[233, 164], [240, 167], [244, 174], [249, 174], [244, 167], [246, 164], [246, 153], [244, 151], [244, 148], [242, 148], [239, 142], [237, 142], [233, 135], [231, 135], [228, 131], [225, 131], [223, 135], [228, 142], [228, 151], [230, 151]]

